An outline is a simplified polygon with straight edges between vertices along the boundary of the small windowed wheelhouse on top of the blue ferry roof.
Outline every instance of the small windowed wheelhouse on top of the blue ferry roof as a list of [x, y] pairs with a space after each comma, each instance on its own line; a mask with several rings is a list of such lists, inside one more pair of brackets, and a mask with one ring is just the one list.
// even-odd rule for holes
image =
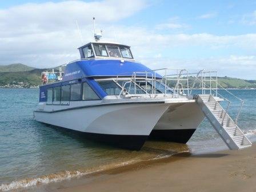
[[130, 46], [110, 42], [90, 42], [78, 48], [81, 59], [134, 60]]

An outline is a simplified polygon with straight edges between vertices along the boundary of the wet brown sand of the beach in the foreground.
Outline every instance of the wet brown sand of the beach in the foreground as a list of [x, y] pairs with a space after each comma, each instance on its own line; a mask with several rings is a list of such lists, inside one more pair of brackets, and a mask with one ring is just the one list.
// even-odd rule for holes
[[37, 186], [40, 191], [256, 191], [256, 145], [241, 151], [182, 153]]

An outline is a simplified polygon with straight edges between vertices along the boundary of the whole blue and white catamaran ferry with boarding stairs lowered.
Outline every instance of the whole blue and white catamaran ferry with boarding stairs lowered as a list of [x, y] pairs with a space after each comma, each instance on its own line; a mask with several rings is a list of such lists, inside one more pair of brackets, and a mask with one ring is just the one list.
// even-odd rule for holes
[[[251, 146], [237, 126], [241, 109], [233, 121], [219, 105], [227, 99], [218, 94], [216, 71], [151, 70], [130, 46], [94, 37], [78, 48], [80, 59], [43, 71], [36, 121], [139, 150], [147, 139], [186, 143], [206, 117], [230, 149]], [[192, 94], [195, 85], [200, 94]]]

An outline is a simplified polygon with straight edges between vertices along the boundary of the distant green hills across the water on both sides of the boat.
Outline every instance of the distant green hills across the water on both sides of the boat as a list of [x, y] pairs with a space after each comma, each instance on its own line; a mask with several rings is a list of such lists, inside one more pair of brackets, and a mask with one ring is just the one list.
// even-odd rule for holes
[[[6, 66], [0, 65], [0, 86], [9, 85], [41, 85], [41, 73], [45, 69], [35, 69], [21, 63]], [[189, 86], [193, 85], [195, 77], [189, 77]], [[22, 82], [22, 83], [21, 83]], [[185, 81], [183, 81], [185, 82]], [[256, 80], [245, 80], [230, 77], [218, 77], [218, 83], [225, 88], [234, 89], [250, 89], [256, 88]], [[173, 82], [170, 87], [174, 87]], [[199, 87], [199, 83], [195, 84], [195, 88]]]

